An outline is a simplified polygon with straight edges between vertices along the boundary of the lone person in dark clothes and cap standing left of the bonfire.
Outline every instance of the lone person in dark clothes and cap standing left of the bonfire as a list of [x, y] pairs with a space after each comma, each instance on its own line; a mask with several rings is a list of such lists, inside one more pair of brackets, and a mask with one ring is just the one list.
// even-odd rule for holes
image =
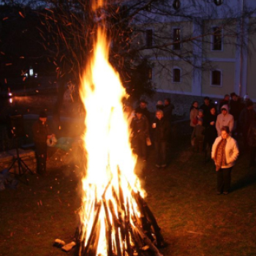
[[55, 136], [50, 131], [47, 122], [47, 115], [44, 111], [39, 113], [37, 120], [32, 127], [34, 135], [35, 153], [37, 157], [37, 173], [44, 175], [46, 172], [47, 143], [46, 140]]

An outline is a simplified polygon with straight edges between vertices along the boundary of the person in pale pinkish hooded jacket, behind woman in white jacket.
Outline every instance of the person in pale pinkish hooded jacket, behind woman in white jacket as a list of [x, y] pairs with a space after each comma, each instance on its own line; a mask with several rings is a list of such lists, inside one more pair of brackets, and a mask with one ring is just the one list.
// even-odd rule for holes
[[222, 113], [220, 113], [217, 116], [217, 121], [216, 121], [216, 129], [218, 132], [218, 136], [222, 135], [222, 127], [229, 127], [230, 132], [233, 131], [234, 127], [234, 117], [228, 113], [228, 106], [223, 105], [221, 109]]

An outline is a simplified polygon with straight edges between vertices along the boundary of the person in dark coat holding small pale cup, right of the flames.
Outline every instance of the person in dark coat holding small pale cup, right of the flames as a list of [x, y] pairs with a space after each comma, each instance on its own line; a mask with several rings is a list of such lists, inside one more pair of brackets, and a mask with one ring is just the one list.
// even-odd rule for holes
[[156, 119], [152, 124], [154, 129], [154, 146], [157, 155], [156, 167], [166, 167], [166, 148], [170, 135], [170, 122], [164, 118], [162, 110], [157, 110]]

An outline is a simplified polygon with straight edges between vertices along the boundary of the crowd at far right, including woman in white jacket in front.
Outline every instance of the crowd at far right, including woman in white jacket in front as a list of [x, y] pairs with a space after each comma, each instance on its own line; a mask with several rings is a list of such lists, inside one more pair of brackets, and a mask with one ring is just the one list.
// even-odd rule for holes
[[236, 93], [226, 94], [219, 108], [209, 97], [203, 105], [192, 102], [190, 108], [191, 143], [195, 151], [207, 155], [211, 151], [217, 170], [217, 194], [230, 191], [231, 170], [238, 157], [237, 140], [241, 138], [241, 151], [249, 150], [249, 167], [256, 165], [256, 112], [246, 95], [244, 100]]

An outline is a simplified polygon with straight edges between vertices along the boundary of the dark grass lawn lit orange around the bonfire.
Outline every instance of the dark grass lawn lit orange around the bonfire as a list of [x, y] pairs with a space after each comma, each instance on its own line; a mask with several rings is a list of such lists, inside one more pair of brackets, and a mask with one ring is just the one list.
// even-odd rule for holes
[[[216, 195], [213, 162], [189, 147], [189, 138], [173, 143], [170, 165], [154, 167], [154, 151], [138, 176], [146, 202], [162, 228], [165, 256], [255, 256], [256, 169], [239, 157], [232, 192]], [[78, 167], [56, 167], [48, 175], [28, 176], [29, 185], [0, 192], [0, 255], [61, 256], [56, 238], [69, 242], [78, 225]]]

